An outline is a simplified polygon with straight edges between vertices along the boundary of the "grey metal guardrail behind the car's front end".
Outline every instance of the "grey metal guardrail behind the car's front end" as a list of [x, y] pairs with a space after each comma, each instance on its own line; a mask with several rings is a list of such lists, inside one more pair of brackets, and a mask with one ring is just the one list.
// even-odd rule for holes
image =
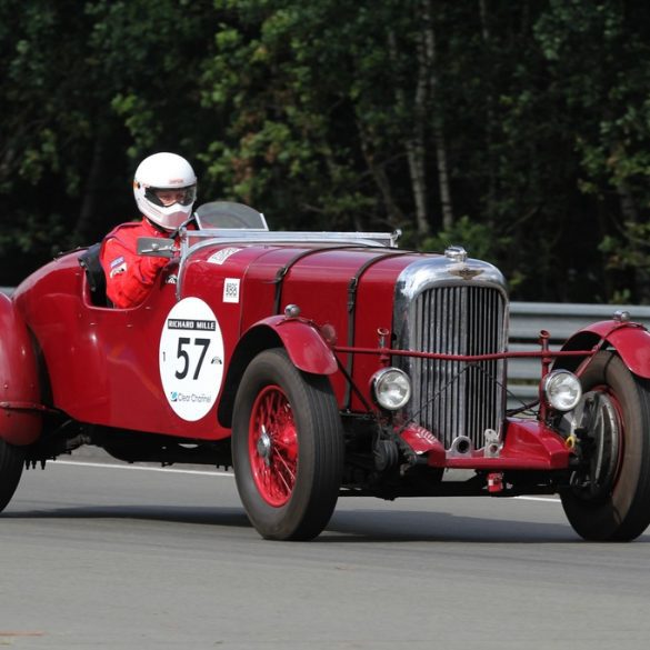
[[[12, 287], [0, 287], [11, 296]], [[630, 312], [633, 321], [650, 329], [650, 307], [634, 304], [570, 304], [561, 302], [511, 302], [509, 348], [514, 352], [539, 350], [541, 330], [550, 334], [551, 350], [559, 350], [562, 343], [581, 328], [608, 320], [617, 310]], [[508, 361], [508, 406], [514, 408], [537, 397], [541, 374], [539, 359], [510, 359]]]

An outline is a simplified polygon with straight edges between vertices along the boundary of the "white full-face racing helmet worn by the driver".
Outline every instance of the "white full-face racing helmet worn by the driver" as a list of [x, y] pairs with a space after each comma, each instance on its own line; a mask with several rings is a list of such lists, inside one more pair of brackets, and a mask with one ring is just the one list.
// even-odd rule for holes
[[197, 174], [184, 158], [176, 153], [154, 153], [138, 166], [133, 194], [147, 219], [172, 231], [192, 213]]

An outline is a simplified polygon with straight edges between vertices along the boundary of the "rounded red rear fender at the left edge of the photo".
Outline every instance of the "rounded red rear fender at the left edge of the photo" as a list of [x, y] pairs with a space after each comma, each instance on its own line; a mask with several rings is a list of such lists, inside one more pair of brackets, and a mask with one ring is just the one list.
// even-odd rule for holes
[[36, 354], [13, 302], [0, 293], [0, 438], [30, 444], [42, 427]]

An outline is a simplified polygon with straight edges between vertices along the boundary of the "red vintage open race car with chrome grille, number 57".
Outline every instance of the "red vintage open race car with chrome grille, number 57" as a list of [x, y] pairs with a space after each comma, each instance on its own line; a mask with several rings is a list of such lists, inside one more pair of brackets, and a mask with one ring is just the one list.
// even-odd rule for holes
[[[271, 232], [237, 203], [196, 220], [140, 242], [169, 263], [133, 309], [108, 304], [97, 246], [0, 297], [0, 509], [23, 466], [94, 444], [232, 466], [269, 539], [318, 536], [339, 496], [559, 493], [586, 539], [646, 530], [650, 334], [626, 313], [510, 352], [504, 280], [461, 248]], [[523, 354], [539, 400], [508, 412]]]

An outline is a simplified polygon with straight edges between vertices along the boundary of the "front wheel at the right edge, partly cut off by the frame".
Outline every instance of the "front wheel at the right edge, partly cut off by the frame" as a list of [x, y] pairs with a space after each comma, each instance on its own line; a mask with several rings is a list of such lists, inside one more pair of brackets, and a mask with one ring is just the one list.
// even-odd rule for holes
[[581, 382], [592, 404], [591, 462], [561, 492], [562, 506], [582, 538], [630, 541], [650, 523], [650, 383], [612, 352], [598, 352]]

